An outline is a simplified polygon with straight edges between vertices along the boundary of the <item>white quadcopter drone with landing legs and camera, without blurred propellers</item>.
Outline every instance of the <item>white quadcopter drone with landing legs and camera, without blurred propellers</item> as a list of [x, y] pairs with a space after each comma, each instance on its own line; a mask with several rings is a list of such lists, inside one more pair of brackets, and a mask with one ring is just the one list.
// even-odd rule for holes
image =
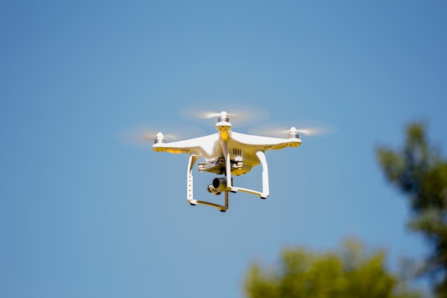
[[[268, 167], [265, 156], [266, 150], [297, 147], [301, 145], [298, 131], [292, 127], [288, 138], [274, 138], [268, 136], [253, 136], [231, 131], [231, 123], [226, 111], [222, 111], [216, 123], [216, 134], [201, 136], [184, 141], [166, 143], [164, 135], [159, 132], [152, 146], [155, 152], [187, 153], [189, 154], [187, 172], [187, 197], [189, 204], [205, 204], [216, 207], [221, 212], [228, 209], [228, 192], [248, 192], [257, 194], [261, 199], [266, 199], [268, 190]], [[224, 205], [194, 199], [193, 193], [193, 167], [197, 160], [203, 157], [205, 162], [199, 163], [200, 172], [211, 172], [222, 175], [213, 179], [207, 187], [214, 194], [225, 194]], [[251, 171], [258, 164], [262, 165], [262, 191], [233, 186], [231, 175], [239, 176]]]

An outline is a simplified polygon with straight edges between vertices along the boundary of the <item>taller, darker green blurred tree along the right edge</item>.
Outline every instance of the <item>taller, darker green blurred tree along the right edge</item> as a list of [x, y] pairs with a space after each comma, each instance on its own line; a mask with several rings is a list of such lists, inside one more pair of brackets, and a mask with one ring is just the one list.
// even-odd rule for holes
[[381, 146], [377, 156], [388, 181], [408, 197], [408, 226], [433, 245], [421, 273], [433, 279], [438, 297], [447, 297], [447, 161], [418, 122], [408, 124], [403, 149]]

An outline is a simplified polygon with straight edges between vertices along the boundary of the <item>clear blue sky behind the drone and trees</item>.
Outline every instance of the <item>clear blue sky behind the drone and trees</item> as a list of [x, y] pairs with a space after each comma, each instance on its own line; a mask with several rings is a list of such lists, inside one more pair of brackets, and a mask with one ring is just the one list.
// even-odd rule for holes
[[[374, 149], [423, 119], [446, 152], [447, 3], [360, 2], [1, 1], [0, 296], [241, 297], [253, 259], [350, 235], [423, 258]], [[186, 155], [115, 134], [199, 101], [338, 131], [268, 152], [267, 200], [191, 207]]]

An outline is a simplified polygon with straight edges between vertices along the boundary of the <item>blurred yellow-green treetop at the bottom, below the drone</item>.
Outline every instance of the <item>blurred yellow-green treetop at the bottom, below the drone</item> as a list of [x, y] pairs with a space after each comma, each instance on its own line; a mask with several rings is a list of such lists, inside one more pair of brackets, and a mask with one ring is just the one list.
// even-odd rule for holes
[[385, 267], [386, 253], [368, 253], [361, 242], [348, 239], [334, 252], [315, 253], [286, 248], [279, 267], [254, 262], [245, 279], [250, 298], [409, 298], [421, 297]]

